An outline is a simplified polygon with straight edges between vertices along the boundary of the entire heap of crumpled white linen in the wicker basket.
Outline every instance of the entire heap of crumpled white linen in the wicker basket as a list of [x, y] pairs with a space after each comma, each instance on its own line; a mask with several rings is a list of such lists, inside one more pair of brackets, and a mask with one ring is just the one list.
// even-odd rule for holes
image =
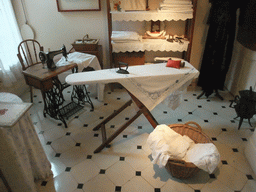
[[165, 167], [168, 159], [194, 163], [198, 168], [212, 173], [220, 163], [220, 154], [213, 143], [195, 143], [186, 135], [180, 135], [165, 124], [158, 125], [150, 133], [147, 144], [152, 151], [152, 163]]

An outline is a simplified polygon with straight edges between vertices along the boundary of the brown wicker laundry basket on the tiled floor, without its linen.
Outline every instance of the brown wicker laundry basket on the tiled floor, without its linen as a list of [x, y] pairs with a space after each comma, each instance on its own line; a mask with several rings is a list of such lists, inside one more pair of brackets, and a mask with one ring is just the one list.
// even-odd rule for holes
[[[190, 126], [190, 124], [196, 125], [196, 127]], [[171, 124], [168, 126], [181, 135], [187, 135], [195, 143], [212, 143], [211, 138], [203, 133], [202, 128], [193, 121], [189, 121], [185, 124]], [[173, 177], [179, 179], [191, 178], [200, 170], [193, 163], [177, 159], [169, 159], [165, 168]]]

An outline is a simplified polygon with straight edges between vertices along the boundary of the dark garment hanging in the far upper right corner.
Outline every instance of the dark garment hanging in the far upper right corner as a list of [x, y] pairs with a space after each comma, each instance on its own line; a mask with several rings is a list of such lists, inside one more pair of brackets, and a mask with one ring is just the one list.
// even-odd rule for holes
[[256, 0], [243, 0], [241, 4], [237, 41], [256, 51]]

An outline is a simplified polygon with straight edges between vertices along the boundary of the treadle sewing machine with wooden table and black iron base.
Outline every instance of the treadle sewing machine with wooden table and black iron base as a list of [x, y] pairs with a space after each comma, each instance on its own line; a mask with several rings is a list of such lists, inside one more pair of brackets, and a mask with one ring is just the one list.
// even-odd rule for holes
[[47, 64], [47, 68], [41, 65], [34, 65], [23, 71], [26, 83], [30, 86], [41, 90], [44, 100], [43, 115], [60, 120], [67, 128], [66, 120], [70, 119], [78, 111], [84, 108], [83, 104], [88, 102], [93, 110], [93, 104], [88, 96], [85, 86], [74, 86], [71, 94], [71, 102], [64, 99], [62, 91], [69, 85], [61, 83], [58, 75], [68, 70], [73, 73], [77, 72], [77, 64], [71, 63], [64, 66], [55, 65], [53, 58], [55, 55], [62, 54], [67, 60], [67, 52], [65, 45], [60, 50], [49, 51], [47, 53], [40, 52], [39, 57], [43, 64]]

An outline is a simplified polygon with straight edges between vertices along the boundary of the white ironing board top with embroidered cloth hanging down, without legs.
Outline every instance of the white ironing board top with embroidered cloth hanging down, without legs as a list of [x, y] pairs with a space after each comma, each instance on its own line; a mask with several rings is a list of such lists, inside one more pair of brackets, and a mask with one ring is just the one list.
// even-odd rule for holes
[[117, 69], [104, 69], [95, 72], [71, 74], [66, 82], [73, 85], [90, 83], [120, 83], [149, 110], [154, 109], [167, 96], [183, 90], [197, 78], [199, 72], [185, 62], [181, 69], [166, 67], [166, 63], [137, 65], [128, 68], [130, 74], [116, 73]]

